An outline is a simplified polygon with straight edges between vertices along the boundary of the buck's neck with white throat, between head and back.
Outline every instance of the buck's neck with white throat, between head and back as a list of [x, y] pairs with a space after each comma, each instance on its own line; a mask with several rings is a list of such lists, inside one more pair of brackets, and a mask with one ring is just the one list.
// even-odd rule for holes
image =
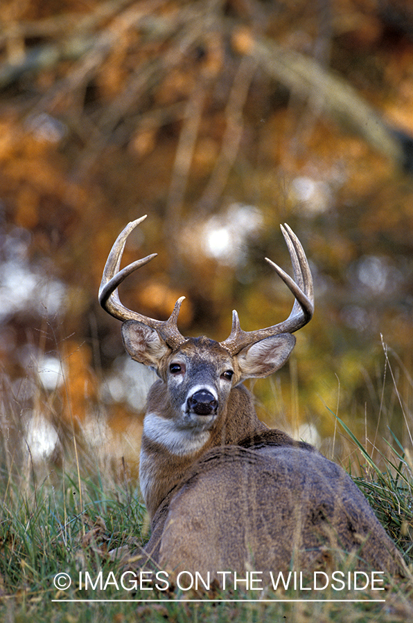
[[166, 404], [159, 400], [162, 392], [165, 389], [160, 383], [150, 390], [141, 443], [141, 492], [151, 517], [205, 452], [214, 446], [236, 444], [267, 429], [258, 419], [252, 395], [243, 385], [231, 390], [225, 408], [208, 431], [179, 430], [170, 409], [159, 408], [159, 404]]

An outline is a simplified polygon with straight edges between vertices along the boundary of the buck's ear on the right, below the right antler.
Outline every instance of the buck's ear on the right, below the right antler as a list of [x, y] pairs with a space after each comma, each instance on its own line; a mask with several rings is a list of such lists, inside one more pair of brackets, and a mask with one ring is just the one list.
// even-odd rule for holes
[[281, 333], [243, 348], [237, 355], [241, 381], [252, 377], [267, 377], [279, 370], [294, 346], [295, 337], [289, 333]]

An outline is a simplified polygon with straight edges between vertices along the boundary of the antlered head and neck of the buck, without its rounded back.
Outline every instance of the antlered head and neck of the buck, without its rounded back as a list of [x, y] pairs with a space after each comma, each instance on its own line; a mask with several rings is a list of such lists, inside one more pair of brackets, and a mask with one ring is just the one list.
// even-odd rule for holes
[[[159, 381], [152, 386], [144, 421], [141, 446], [141, 489], [150, 514], [162, 496], [182, 476], [188, 464], [214, 444], [230, 443], [261, 430], [254, 406], [240, 383], [250, 377], [266, 377], [285, 363], [295, 345], [292, 332], [313, 316], [313, 280], [304, 250], [288, 226], [281, 227], [290, 251], [294, 279], [267, 260], [295, 295], [287, 320], [245, 332], [233, 312], [231, 333], [222, 342], [206, 337], [185, 337], [177, 328], [184, 297], [179, 298], [168, 320], [155, 320], [121, 303], [118, 285], [154, 255], [120, 270], [125, 242], [145, 219], [128, 224], [118, 236], [103, 271], [100, 305], [123, 320], [126, 350], [135, 361], [153, 368]], [[162, 469], [155, 469], [160, 458]]]

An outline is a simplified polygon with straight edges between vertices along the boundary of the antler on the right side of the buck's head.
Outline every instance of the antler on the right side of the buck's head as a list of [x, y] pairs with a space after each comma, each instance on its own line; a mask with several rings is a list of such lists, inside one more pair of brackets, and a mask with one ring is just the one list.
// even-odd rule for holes
[[293, 333], [301, 329], [301, 327], [304, 327], [313, 317], [313, 277], [311, 276], [310, 267], [308, 266], [306, 253], [304, 253], [301, 242], [299, 242], [299, 239], [287, 224], [285, 224], [284, 227], [281, 225], [281, 231], [283, 232], [288, 251], [290, 252], [294, 279], [268, 258], [265, 258], [265, 260], [267, 260], [268, 264], [279, 274], [283, 282], [295, 296], [291, 314], [286, 320], [283, 320], [282, 323], [272, 325], [272, 327], [258, 329], [257, 331], [243, 331], [240, 327], [238, 314], [234, 309], [232, 312], [231, 333], [226, 340], [220, 342], [221, 346], [229, 350], [231, 355], [237, 354], [245, 346], [259, 342], [264, 338], [279, 335], [280, 333]]

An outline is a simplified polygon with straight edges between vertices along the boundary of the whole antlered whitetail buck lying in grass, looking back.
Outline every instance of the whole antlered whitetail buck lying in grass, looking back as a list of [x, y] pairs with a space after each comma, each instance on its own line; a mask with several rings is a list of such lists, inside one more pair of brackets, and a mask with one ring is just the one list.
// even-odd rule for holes
[[109, 253], [100, 305], [123, 320], [132, 359], [159, 376], [143, 422], [140, 481], [152, 518], [146, 552], [162, 568], [215, 575], [224, 570], [310, 569], [353, 552], [360, 565], [397, 572], [403, 561], [358, 487], [312, 446], [265, 426], [242, 381], [266, 377], [288, 359], [292, 332], [313, 316], [313, 280], [302, 246], [281, 227], [294, 280], [271, 260], [295, 295], [287, 320], [245, 332], [234, 311], [217, 342], [184, 337], [165, 321], [124, 307], [117, 287], [148, 255], [120, 269], [125, 227]]

